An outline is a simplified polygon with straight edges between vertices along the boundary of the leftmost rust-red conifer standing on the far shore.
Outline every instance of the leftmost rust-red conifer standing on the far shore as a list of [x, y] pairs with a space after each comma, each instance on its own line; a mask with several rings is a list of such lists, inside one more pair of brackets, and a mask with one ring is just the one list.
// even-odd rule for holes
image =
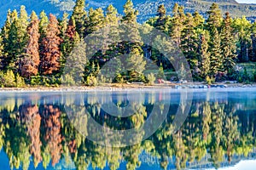
[[31, 24], [27, 28], [28, 43], [26, 46], [26, 54], [21, 59], [20, 71], [21, 76], [30, 78], [38, 74], [38, 65], [40, 62], [39, 57], [39, 20], [36, 17], [33, 18]]

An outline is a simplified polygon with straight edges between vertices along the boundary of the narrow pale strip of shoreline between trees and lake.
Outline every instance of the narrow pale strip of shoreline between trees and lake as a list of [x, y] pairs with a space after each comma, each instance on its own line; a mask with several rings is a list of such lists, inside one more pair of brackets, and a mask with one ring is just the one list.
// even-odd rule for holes
[[[83, 91], [120, 91], [120, 90], [160, 90], [160, 89], [176, 89], [177, 86], [183, 88], [189, 88], [189, 89], [196, 89], [200, 90], [201, 88], [191, 88], [191, 86], [199, 87], [199, 86], [204, 86], [205, 84], [201, 83], [193, 83], [193, 84], [156, 84], [154, 86], [147, 86], [147, 85], [127, 85], [127, 84], [108, 84], [104, 86], [97, 86], [97, 87], [61, 87], [61, 88], [44, 88], [44, 87], [38, 87], [38, 88], [0, 88], [0, 93], [1, 92], [10, 92], [10, 91], [15, 91], [15, 92], [62, 92], [62, 91], [77, 91], [77, 92], [83, 92]], [[218, 84], [218, 85], [223, 85], [223, 84]], [[224, 89], [229, 89], [229, 88], [241, 88], [241, 89], [254, 89], [256, 88], [256, 83], [254, 84], [224, 84], [226, 88]], [[221, 88], [212, 88], [212, 89], [221, 89]]]

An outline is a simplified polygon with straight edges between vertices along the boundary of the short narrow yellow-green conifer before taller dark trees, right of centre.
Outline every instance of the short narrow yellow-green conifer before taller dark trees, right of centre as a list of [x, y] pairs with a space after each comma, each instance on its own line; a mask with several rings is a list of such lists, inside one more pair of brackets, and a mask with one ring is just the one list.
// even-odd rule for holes
[[200, 37], [200, 47], [199, 47], [199, 54], [200, 54], [200, 69], [201, 69], [201, 77], [206, 78], [209, 76], [210, 73], [210, 53], [209, 53], [209, 33], [203, 32]]

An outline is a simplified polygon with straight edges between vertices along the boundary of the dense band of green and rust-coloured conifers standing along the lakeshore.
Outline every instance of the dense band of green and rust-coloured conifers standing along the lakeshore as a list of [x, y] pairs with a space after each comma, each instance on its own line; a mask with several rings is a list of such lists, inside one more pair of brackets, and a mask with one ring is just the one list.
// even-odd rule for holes
[[[137, 15], [140, 11], [134, 8], [131, 0], [124, 6], [124, 14], [118, 14], [113, 5], [106, 11], [102, 8], [85, 10], [84, 0], [77, 0], [73, 13], [64, 14], [58, 20], [54, 14], [42, 11], [28, 15], [25, 6], [20, 10], [9, 10], [7, 20], [1, 29], [0, 36], [0, 86], [23, 87], [59, 86], [61, 82], [74, 84], [72, 75], [62, 76], [68, 58], [86, 61], [83, 50], [87, 45], [84, 37], [105, 26], [118, 26], [120, 23], [133, 26], [131, 38], [137, 42], [116, 42], [107, 50], [98, 51], [81, 71], [84, 85], [96, 85], [104, 82], [154, 82], [161, 74], [166, 79], [177, 77], [173, 65], [159, 51], [143, 44], [140, 32], [137, 30]], [[189, 62], [194, 81], [208, 83], [222, 80], [238, 82], [253, 82], [256, 72], [252, 74], [239, 71], [236, 63], [256, 61], [256, 22], [252, 23], [246, 17], [232, 19], [230, 13], [224, 16], [217, 3], [212, 3], [207, 10], [207, 20], [197, 12], [184, 13], [184, 7], [177, 3], [170, 11], [164, 5], [157, 8], [156, 16], [147, 20], [143, 26], [150, 31], [156, 28], [171, 37], [177, 47], [181, 48]], [[116, 32], [117, 35], [120, 32]], [[81, 45], [82, 44], [82, 45]], [[72, 53], [79, 45], [79, 54]], [[97, 77], [103, 65], [120, 54], [128, 54], [133, 65], [131, 71], [121, 71], [121, 59], [117, 60], [115, 77]], [[146, 77], [145, 59], [152, 60], [160, 67]], [[137, 65], [137, 66], [136, 66]]]

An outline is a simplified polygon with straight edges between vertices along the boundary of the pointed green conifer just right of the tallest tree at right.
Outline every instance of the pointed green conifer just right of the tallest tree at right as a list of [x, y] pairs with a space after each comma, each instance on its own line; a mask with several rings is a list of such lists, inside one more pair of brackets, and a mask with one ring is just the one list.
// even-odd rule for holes
[[226, 13], [221, 31], [221, 50], [224, 58], [224, 71], [233, 71], [236, 59], [236, 42], [232, 34], [230, 14]]

